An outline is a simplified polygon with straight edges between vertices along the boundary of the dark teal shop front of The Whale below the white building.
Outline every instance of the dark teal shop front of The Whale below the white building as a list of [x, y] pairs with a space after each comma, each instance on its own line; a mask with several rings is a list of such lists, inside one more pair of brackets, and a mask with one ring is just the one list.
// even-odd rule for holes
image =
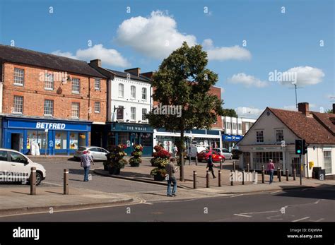
[[107, 124], [107, 147], [112, 145], [127, 145], [125, 152], [130, 155], [134, 145], [143, 146], [143, 156], [150, 157], [153, 153], [153, 129], [148, 124]]

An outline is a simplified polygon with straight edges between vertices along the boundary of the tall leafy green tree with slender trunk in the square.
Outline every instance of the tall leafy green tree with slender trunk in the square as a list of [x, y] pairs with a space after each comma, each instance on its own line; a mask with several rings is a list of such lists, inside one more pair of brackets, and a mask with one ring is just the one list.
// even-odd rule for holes
[[223, 115], [222, 104], [208, 93], [218, 75], [206, 68], [207, 53], [201, 45], [189, 47], [187, 42], [163, 60], [153, 74], [153, 100], [163, 106], [177, 106], [181, 114], [158, 114], [155, 108], [147, 114], [153, 128], [180, 132], [180, 181], [184, 181], [184, 131], [210, 129], [217, 116]]

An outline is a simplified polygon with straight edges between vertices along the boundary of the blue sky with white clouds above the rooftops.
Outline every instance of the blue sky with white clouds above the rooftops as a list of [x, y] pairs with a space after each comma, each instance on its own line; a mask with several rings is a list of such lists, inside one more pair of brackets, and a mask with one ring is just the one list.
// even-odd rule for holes
[[331, 0], [5, 0], [0, 11], [1, 44], [100, 58], [119, 71], [155, 71], [183, 40], [204, 44], [224, 107], [240, 116], [255, 117], [267, 106], [295, 107], [293, 85], [269, 80], [275, 70], [297, 74], [298, 102], [310, 102], [312, 110], [335, 102]]

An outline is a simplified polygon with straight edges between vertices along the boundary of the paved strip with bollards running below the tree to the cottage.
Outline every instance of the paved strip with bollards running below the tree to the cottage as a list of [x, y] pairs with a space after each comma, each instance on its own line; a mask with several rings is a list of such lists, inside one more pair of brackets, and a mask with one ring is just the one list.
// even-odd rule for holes
[[[162, 185], [166, 186], [166, 181], [154, 181], [153, 177], [151, 177], [150, 172], [153, 167], [149, 162], [150, 158], [143, 159], [140, 167], [130, 167], [126, 165], [124, 169], [121, 169], [121, 173], [119, 175], [112, 175], [105, 171], [102, 167], [96, 168], [94, 170], [95, 174], [99, 174], [105, 177], [112, 177], [117, 179], [128, 179], [132, 181], [140, 181], [150, 184]], [[217, 164], [218, 165], [218, 164]], [[209, 188], [206, 187], [206, 163], [199, 162], [198, 165], [195, 165], [195, 162], [192, 161], [191, 165], [189, 165], [189, 161], [187, 160], [184, 165], [184, 179], [185, 181], [178, 181], [177, 185], [181, 189], [194, 189], [194, 181], [193, 174], [196, 171], [196, 191], [203, 191], [206, 193], [223, 193], [223, 194], [235, 194], [235, 193], [249, 193], [249, 192], [259, 192], [259, 191], [281, 191], [285, 189], [306, 189], [306, 188], [315, 188], [318, 186], [322, 186], [324, 184], [335, 186], [335, 180], [325, 180], [319, 181], [317, 179], [307, 179], [302, 178], [302, 185], [300, 185], [299, 177], [296, 177], [293, 180], [293, 177], [289, 177], [288, 181], [286, 181], [286, 177], [282, 176], [281, 181], [278, 181], [278, 177], [274, 177], [274, 182], [269, 184], [269, 175], [264, 176], [264, 184], [261, 183], [261, 174], [257, 174], [257, 184], [252, 182], [252, 179], [249, 181], [245, 181], [245, 184], [242, 184], [242, 175], [238, 175], [238, 171], [236, 172], [237, 181], [233, 182], [233, 186], [230, 183], [230, 170], [233, 169], [232, 161], [227, 161], [223, 163], [221, 169], [221, 186], [219, 186], [218, 179], [218, 170], [219, 165], [215, 169], [216, 179], [210, 174], [209, 177]], [[240, 172], [241, 173], [241, 172]], [[251, 174], [251, 173], [250, 173]], [[176, 174], [179, 177], [179, 173]], [[240, 179], [239, 179], [240, 177]], [[247, 177], [246, 177], [247, 180]]]

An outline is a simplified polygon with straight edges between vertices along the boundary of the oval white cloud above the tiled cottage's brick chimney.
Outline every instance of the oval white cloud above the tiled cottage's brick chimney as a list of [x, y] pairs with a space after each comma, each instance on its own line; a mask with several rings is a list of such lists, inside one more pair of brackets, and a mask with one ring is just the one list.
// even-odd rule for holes
[[[286, 71], [294, 74], [297, 86], [315, 85], [322, 82], [324, 72], [322, 69], [311, 66], [296, 66]], [[292, 85], [292, 82], [282, 82], [281, 84]]]

